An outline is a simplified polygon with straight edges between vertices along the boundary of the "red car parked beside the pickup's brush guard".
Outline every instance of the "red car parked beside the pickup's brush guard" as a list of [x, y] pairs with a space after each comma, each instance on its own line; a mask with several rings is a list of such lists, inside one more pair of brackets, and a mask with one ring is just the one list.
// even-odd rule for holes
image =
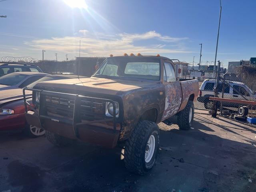
[[[84, 76], [80, 76], [86, 78]], [[47, 75], [28, 85], [33, 88], [34, 84], [42, 81], [77, 78], [77, 75]], [[26, 99], [32, 103], [32, 92], [26, 91]], [[31, 110], [33, 110], [31, 108]], [[44, 135], [44, 129], [29, 125], [25, 118], [25, 108], [22, 89], [0, 90], [0, 131], [22, 131], [30, 137]]]

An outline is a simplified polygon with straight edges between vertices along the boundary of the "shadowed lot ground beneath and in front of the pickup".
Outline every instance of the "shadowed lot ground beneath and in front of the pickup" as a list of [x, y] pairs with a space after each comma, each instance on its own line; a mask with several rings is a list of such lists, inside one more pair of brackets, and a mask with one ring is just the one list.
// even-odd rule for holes
[[159, 125], [158, 160], [146, 176], [124, 168], [119, 148], [56, 148], [44, 137], [1, 134], [0, 192], [256, 191], [256, 128], [197, 112], [190, 131]]

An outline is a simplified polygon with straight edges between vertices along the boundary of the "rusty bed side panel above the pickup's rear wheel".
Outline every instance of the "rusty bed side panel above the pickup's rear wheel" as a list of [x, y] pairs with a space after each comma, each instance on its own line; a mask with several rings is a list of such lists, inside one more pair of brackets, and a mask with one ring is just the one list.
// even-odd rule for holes
[[198, 98], [199, 92], [199, 84], [198, 80], [187, 80], [180, 82], [181, 90], [182, 90], [182, 104], [180, 106], [179, 111], [183, 110], [192, 94], [194, 94], [194, 101]]

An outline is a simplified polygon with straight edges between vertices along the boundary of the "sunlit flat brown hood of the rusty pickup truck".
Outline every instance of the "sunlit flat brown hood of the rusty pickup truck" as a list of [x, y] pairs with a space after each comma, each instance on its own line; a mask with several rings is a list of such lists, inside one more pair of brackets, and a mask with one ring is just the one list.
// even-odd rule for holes
[[40, 82], [36, 84], [35, 87], [46, 90], [47, 88], [51, 88], [56, 91], [58, 91], [58, 89], [69, 89], [116, 95], [118, 92], [126, 92], [129, 90], [139, 89], [143, 86], [156, 83], [157, 81], [143, 79], [120, 80], [91, 77]]

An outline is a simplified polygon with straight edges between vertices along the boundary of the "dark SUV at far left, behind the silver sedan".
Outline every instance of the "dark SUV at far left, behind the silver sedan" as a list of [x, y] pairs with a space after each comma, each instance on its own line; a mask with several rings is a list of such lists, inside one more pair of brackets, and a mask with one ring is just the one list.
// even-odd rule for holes
[[38, 66], [30, 63], [0, 63], [0, 76], [14, 72], [43, 72]]

